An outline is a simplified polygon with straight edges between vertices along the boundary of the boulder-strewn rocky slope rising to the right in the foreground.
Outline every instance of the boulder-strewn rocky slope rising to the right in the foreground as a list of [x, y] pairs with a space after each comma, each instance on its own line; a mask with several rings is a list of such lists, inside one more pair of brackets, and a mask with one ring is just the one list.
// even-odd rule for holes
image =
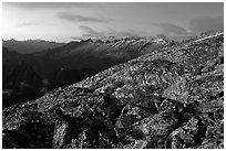
[[3, 148], [224, 148], [224, 34], [3, 110]]

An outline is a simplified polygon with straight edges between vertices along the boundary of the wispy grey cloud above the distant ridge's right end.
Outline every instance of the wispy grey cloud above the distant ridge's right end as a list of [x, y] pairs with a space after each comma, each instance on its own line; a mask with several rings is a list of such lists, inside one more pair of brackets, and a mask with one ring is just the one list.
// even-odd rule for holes
[[164, 34], [187, 34], [187, 31], [178, 25], [171, 24], [171, 23], [154, 23], [155, 26], [158, 26], [163, 30]]

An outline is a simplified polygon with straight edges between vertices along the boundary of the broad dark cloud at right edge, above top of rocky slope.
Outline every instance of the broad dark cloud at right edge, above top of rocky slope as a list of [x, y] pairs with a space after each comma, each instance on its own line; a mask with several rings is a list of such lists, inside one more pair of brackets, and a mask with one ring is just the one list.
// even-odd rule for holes
[[224, 30], [224, 18], [199, 17], [189, 20], [189, 28], [194, 32]]

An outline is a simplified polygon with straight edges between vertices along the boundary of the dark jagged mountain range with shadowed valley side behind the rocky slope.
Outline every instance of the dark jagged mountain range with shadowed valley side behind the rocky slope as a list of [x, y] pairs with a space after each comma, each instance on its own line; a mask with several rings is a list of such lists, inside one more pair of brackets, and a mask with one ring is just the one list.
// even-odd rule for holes
[[[14, 40], [3, 42], [3, 108], [35, 99], [51, 89], [80, 82], [112, 65], [175, 44], [165, 37], [109, 41], [88, 39], [35, 52], [32, 48], [37, 45], [44, 43], [41, 47], [45, 47], [53, 43]], [[21, 47], [34, 53], [21, 54]]]

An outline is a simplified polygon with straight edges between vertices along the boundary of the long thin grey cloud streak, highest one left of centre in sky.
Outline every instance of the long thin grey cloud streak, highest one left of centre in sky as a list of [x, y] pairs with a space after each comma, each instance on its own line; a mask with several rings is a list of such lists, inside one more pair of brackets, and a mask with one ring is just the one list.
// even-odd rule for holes
[[72, 12], [59, 12], [58, 17], [62, 20], [66, 20], [70, 22], [110, 22], [112, 19], [97, 19], [97, 18], [91, 18], [91, 17], [83, 17], [79, 14], [73, 14]]

